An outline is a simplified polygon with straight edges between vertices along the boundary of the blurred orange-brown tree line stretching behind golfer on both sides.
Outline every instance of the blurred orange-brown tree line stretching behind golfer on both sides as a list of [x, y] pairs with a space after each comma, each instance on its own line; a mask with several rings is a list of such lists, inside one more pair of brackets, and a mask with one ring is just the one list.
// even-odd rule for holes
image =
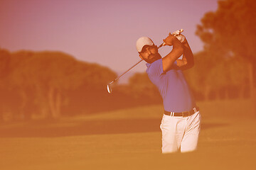
[[[117, 77], [99, 64], [75, 60], [63, 52], [0, 50], [0, 120], [59, 118], [117, 108], [161, 103], [145, 73], [128, 84], [107, 84]], [[250, 96], [247, 63], [238, 58], [218, 60], [195, 54], [195, 66], [184, 74], [198, 100]]]

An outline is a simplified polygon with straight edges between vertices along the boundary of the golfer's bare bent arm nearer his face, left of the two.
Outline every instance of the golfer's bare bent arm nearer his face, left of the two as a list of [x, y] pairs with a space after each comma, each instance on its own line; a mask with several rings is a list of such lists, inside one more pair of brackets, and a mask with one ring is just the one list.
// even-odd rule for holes
[[171, 50], [171, 52], [162, 59], [163, 70], [164, 72], [167, 72], [170, 69], [174, 69], [173, 64], [176, 60], [178, 60], [178, 57], [181, 57], [181, 55], [183, 54], [184, 45], [182, 45], [181, 42], [176, 37], [174, 37], [174, 35], [171, 34], [169, 34], [164, 42], [166, 43], [166, 45], [173, 45], [173, 49]]

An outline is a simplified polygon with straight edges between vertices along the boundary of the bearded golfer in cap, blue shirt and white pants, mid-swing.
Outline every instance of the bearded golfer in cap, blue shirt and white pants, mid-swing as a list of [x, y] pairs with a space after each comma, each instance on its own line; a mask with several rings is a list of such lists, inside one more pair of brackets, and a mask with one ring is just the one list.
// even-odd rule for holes
[[162, 58], [150, 38], [137, 40], [139, 57], [147, 62], [146, 73], [163, 98], [162, 153], [191, 152], [198, 144], [201, 115], [183, 70], [193, 67], [193, 53], [180, 33], [169, 34], [164, 45], [173, 46], [173, 49]]

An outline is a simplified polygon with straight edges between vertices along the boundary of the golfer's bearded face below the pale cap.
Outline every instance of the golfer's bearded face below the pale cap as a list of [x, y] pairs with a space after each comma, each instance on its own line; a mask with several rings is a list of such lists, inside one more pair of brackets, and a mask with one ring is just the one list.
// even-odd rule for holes
[[161, 59], [156, 45], [144, 45], [142, 52], [139, 52], [139, 57], [148, 63]]

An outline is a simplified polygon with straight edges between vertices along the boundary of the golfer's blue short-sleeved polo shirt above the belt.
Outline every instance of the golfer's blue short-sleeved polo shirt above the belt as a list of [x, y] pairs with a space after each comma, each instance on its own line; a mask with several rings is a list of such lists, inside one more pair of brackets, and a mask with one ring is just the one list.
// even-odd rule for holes
[[[176, 64], [176, 62], [174, 63]], [[146, 63], [146, 73], [151, 82], [159, 89], [164, 102], [164, 110], [169, 112], [191, 111], [196, 107], [191, 89], [180, 69], [164, 72], [162, 59]]]

